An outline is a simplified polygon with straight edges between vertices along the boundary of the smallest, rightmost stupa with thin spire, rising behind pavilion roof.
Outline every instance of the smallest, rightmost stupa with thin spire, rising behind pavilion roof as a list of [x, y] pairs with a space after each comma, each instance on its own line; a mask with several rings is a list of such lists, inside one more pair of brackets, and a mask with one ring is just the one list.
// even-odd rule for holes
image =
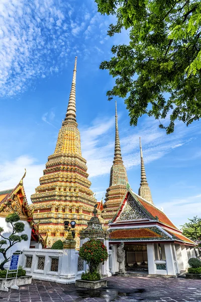
[[144, 160], [142, 155], [141, 138], [140, 138], [140, 158], [141, 158], [141, 183], [140, 183], [138, 195], [144, 198], [145, 200], [147, 200], [148, 202], [153, 203], [151, 190], [148, 186], [146, 172], [145, 172]]

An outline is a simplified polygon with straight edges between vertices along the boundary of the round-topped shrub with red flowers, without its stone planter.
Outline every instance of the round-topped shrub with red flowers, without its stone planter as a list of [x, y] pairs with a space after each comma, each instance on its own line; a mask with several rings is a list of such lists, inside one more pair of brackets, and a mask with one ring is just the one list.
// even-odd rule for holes
[[98, 265], [108, 259], [107, 247], [100, 240], [89, 240], [82, 245], [79, 256], [88, 264], [88, 272], [81, 275], [82, 280], [96, 281], [100, 279]]

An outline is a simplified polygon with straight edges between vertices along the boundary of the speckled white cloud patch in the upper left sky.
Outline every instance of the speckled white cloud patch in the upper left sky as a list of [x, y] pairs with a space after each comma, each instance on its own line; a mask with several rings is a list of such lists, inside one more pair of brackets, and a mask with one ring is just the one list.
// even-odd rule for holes
[[[1, 2], [0, 96], [23, 93], [33, 80], [59, 72], [71, 54], [90, 53], [90, 47], [96, 52], [96, 31], [100, 19], [105, 18], [91, 7], [89, 14], [85, 4], [79, 2], [73, 7], [57, 0]], [[82, 41], [84, 30], [93, 41], [87, 46]]]

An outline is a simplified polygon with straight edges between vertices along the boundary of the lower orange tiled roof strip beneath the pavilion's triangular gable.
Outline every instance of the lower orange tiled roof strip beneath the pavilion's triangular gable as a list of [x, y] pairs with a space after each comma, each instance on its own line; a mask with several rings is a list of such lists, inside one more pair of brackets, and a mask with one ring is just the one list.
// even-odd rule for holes
[[133, 239], [133, 238], [161, 238], [160, 234], [157, 234], [150, 229], [121, 229], [115, 230], [110, 234], [110, 239]]

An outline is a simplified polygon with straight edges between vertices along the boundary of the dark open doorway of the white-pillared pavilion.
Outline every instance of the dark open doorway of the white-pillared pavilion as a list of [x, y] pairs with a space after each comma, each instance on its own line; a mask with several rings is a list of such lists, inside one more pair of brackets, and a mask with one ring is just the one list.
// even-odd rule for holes
[[129, 272], [148, 272], [147, 245], [125, 244], [126, 270]]

